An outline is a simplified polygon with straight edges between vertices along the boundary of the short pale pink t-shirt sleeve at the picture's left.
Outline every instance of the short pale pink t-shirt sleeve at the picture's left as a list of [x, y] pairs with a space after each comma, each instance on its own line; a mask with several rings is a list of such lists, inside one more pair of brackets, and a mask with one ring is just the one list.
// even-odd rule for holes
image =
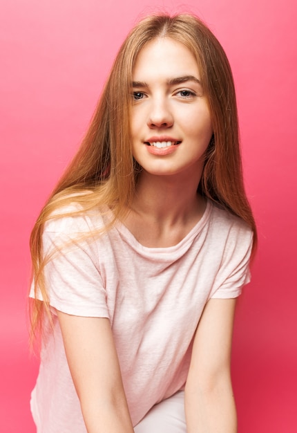
[[[44, 278], [50, 306], [70, 315], [109, 317], [96, 243], [84, 217], [50, 221], [43, 234]], [[34, 297], [31, 290], [31, 297]], [[37, 297], [42, 299], [40, 291]]]

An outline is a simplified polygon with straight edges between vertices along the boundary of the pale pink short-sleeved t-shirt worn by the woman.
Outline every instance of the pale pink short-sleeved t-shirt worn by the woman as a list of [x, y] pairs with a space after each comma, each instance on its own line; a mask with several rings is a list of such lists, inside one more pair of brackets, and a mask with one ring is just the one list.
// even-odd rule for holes
[[120, 222], [100, 237], [82, 239], [110, 217], [92, 211], [46, 226], [45, 252], [68, 245], [46, 266], [55, 333], [46, 338], [32, 391], [38, 432], [86, 433], [55, 309], [109, 318], [136, 425], [155, 403], [184, 387], [207, 300], [237, 297], [249, 282], [251, 230], [210, 202], [191, 232], [168, 248], [142, 246]]

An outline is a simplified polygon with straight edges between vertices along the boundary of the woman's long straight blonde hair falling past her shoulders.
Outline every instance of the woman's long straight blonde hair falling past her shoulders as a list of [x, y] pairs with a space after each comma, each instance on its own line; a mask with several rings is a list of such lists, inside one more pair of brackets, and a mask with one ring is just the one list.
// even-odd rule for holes
[[[35, 291], [44, 302], [32, 301], [32, 332], [50, 307], [43, 270], [44, 224], [58, 209], [76, 201], [81, 212], [98, 205], [113, 207], [115, 219], [130, 205], [137, 183], [137, 163], [131, 152], [130, 111], [133, 67], [140, 50], [157, 37], [171, 37], [191, 50], [198, 62], [207, 96], [213, 138], [205, 156], [198, 191], [244, 220], [256, 225], [245, 194], [238, 138], [238, 114], [228, 59], [213, 33], [193, 15], [152, 15], [140, 21], [119, 49], [82, 146], [44, 206], [30, 238]], [[88, 193], [86, 193], [88, 192]], [[90, 193], [91, 192], [91, 193]]]

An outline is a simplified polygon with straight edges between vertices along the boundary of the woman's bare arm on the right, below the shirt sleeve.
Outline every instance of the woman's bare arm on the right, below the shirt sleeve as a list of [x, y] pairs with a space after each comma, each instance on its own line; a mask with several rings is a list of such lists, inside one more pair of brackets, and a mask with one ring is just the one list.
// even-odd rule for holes
[[193, 344], [185, 387], [188, 433], [236, 433], [230, 374], [236, 300], [207, 302]]

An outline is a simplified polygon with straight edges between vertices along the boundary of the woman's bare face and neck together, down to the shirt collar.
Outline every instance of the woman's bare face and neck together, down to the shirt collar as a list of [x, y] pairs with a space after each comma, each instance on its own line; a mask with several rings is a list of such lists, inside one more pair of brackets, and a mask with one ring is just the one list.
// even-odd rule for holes
[[[142, 173], [125, 223], [145, 246], [172, 246], [204, 212], [196, 191], [213, 133], [190, 51], [169, 38], [147, 44], [135, 64], [133, 100], [133, 156]], [[155, 147], [158, 141], [171, 145]]]

